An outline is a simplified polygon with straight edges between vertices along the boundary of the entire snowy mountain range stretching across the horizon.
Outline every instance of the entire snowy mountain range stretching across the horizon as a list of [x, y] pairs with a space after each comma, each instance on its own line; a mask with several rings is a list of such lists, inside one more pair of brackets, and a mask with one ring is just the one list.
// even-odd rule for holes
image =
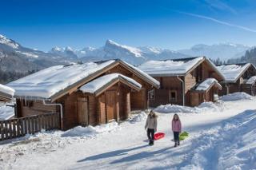
[[151, 46], [133, 47], [121, 45], [117, 42], [107, 40], [105, 45], [99, 48], [85, 47], [83, 49], [72, 49], [54, 47], [48, 53], [37, 49], [23, 47], [18, 42], [0, 35], [0, 69], [4, 71], [26, 72], [28, 70], [43, 69], [51, 65], [67, 64], [77, 61], [99, 61], [120, 58], [139, 65], [149, 60], [164, 60], [181, 57], [206, 56], [213, 59], [218, 57], [227, 60], [232, 57], [241, 57], [250, 49], [246, 45], [238, 44], [215, 44], [194, 45], [191, 49], [173, 51]]

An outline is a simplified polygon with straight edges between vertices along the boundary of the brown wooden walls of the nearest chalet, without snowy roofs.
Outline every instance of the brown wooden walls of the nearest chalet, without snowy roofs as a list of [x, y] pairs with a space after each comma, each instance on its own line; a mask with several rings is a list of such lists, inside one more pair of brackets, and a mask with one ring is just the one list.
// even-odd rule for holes
[[[110, 73], [121, 73], [137, 81], [142, 88], [133, 89], [122, 82], [110, 85], [102, 93], [82, 93], [79, 89], [83, 84], [74, 87], [70, 93], [61, 95], [50, 103], [58, 103], [63, 106], [63, 129], [73, 128], [77, 125], [100, 125], [109, 121], [122, 121], [129, 117], [131, 110], [148, 108], [148, 91], [155, 89], [148, 81], [145, 81], [138, 73], [127, 69], [126, 66], [118, 64], [106, 69], [98, 77]], [[94, 77], [97, 79], [98, 77]], [[93, 80], [94, 80], [93, 79]], [[93, 81], [92, 80], [92, 81]], [[49, 102], [49, 101], [48, 101]], [[40, 100], [17, 100], [18, 117], [40, 115], [44, 113], [60, 112], [58, 105], [43, 105]]]

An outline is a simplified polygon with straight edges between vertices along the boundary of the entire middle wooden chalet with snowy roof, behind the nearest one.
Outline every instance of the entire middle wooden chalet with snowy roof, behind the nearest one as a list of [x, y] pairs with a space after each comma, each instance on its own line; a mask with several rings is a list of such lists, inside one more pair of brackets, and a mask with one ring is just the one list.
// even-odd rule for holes
[[[214, 101], [214, 95], [221, 89], [218, 81], [224, 80], [222, 73], [206, 57], [147, 61], [138, 69], [160, 82], [160, 88], [149, 94], [151, 107], [166, 104], [194, 106], [203, 101]], [[205, 88], [198, 88], [202, 86]]]

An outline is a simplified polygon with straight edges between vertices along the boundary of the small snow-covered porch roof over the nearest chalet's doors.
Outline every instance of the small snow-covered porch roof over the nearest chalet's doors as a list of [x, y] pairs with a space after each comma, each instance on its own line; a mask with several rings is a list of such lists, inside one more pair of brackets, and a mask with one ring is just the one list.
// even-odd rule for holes
[[105, 76], [98, 77], [94, 79], [94, 81], [90, 81], [86, 83], [86, 85], [82, 85], [79, 89], [83, 93], [96, 93], [98, 90], [104, 88], [106, 85], [110, 84], [113, 81], [124, 80], [127, 81], [130, 85], [135, 86], [137, 89], [141, 89], [142, 85], [140, 85], [137, 81], [130, 77], [126, 77], [120, 73], [111, 73], [106, 74]]

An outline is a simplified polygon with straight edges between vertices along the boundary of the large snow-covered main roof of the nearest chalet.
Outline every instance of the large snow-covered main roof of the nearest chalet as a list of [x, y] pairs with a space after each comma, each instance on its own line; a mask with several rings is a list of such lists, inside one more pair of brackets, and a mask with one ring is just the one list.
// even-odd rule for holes
[[37, 73], [33, 73], [27, 77], [10, 82], [8, 85], [15, 89], [15, 97], [27, 97], [48, 99], [62, 93], [62, 90], [74, 88], [78, 82], [89, 79], [89, 77], [100, 73], [103, 69], [111, 69], [111, 65], [119, 63], [134, 73], [143, 80], [148, 81], [151, 85], [159, 86], [159, 82], [142, 70], [135, 68], [124, 61], [110, 60], [101, 62], [86, 62], [82, 65], [56, 65], [48, 69], [42, 69]]

